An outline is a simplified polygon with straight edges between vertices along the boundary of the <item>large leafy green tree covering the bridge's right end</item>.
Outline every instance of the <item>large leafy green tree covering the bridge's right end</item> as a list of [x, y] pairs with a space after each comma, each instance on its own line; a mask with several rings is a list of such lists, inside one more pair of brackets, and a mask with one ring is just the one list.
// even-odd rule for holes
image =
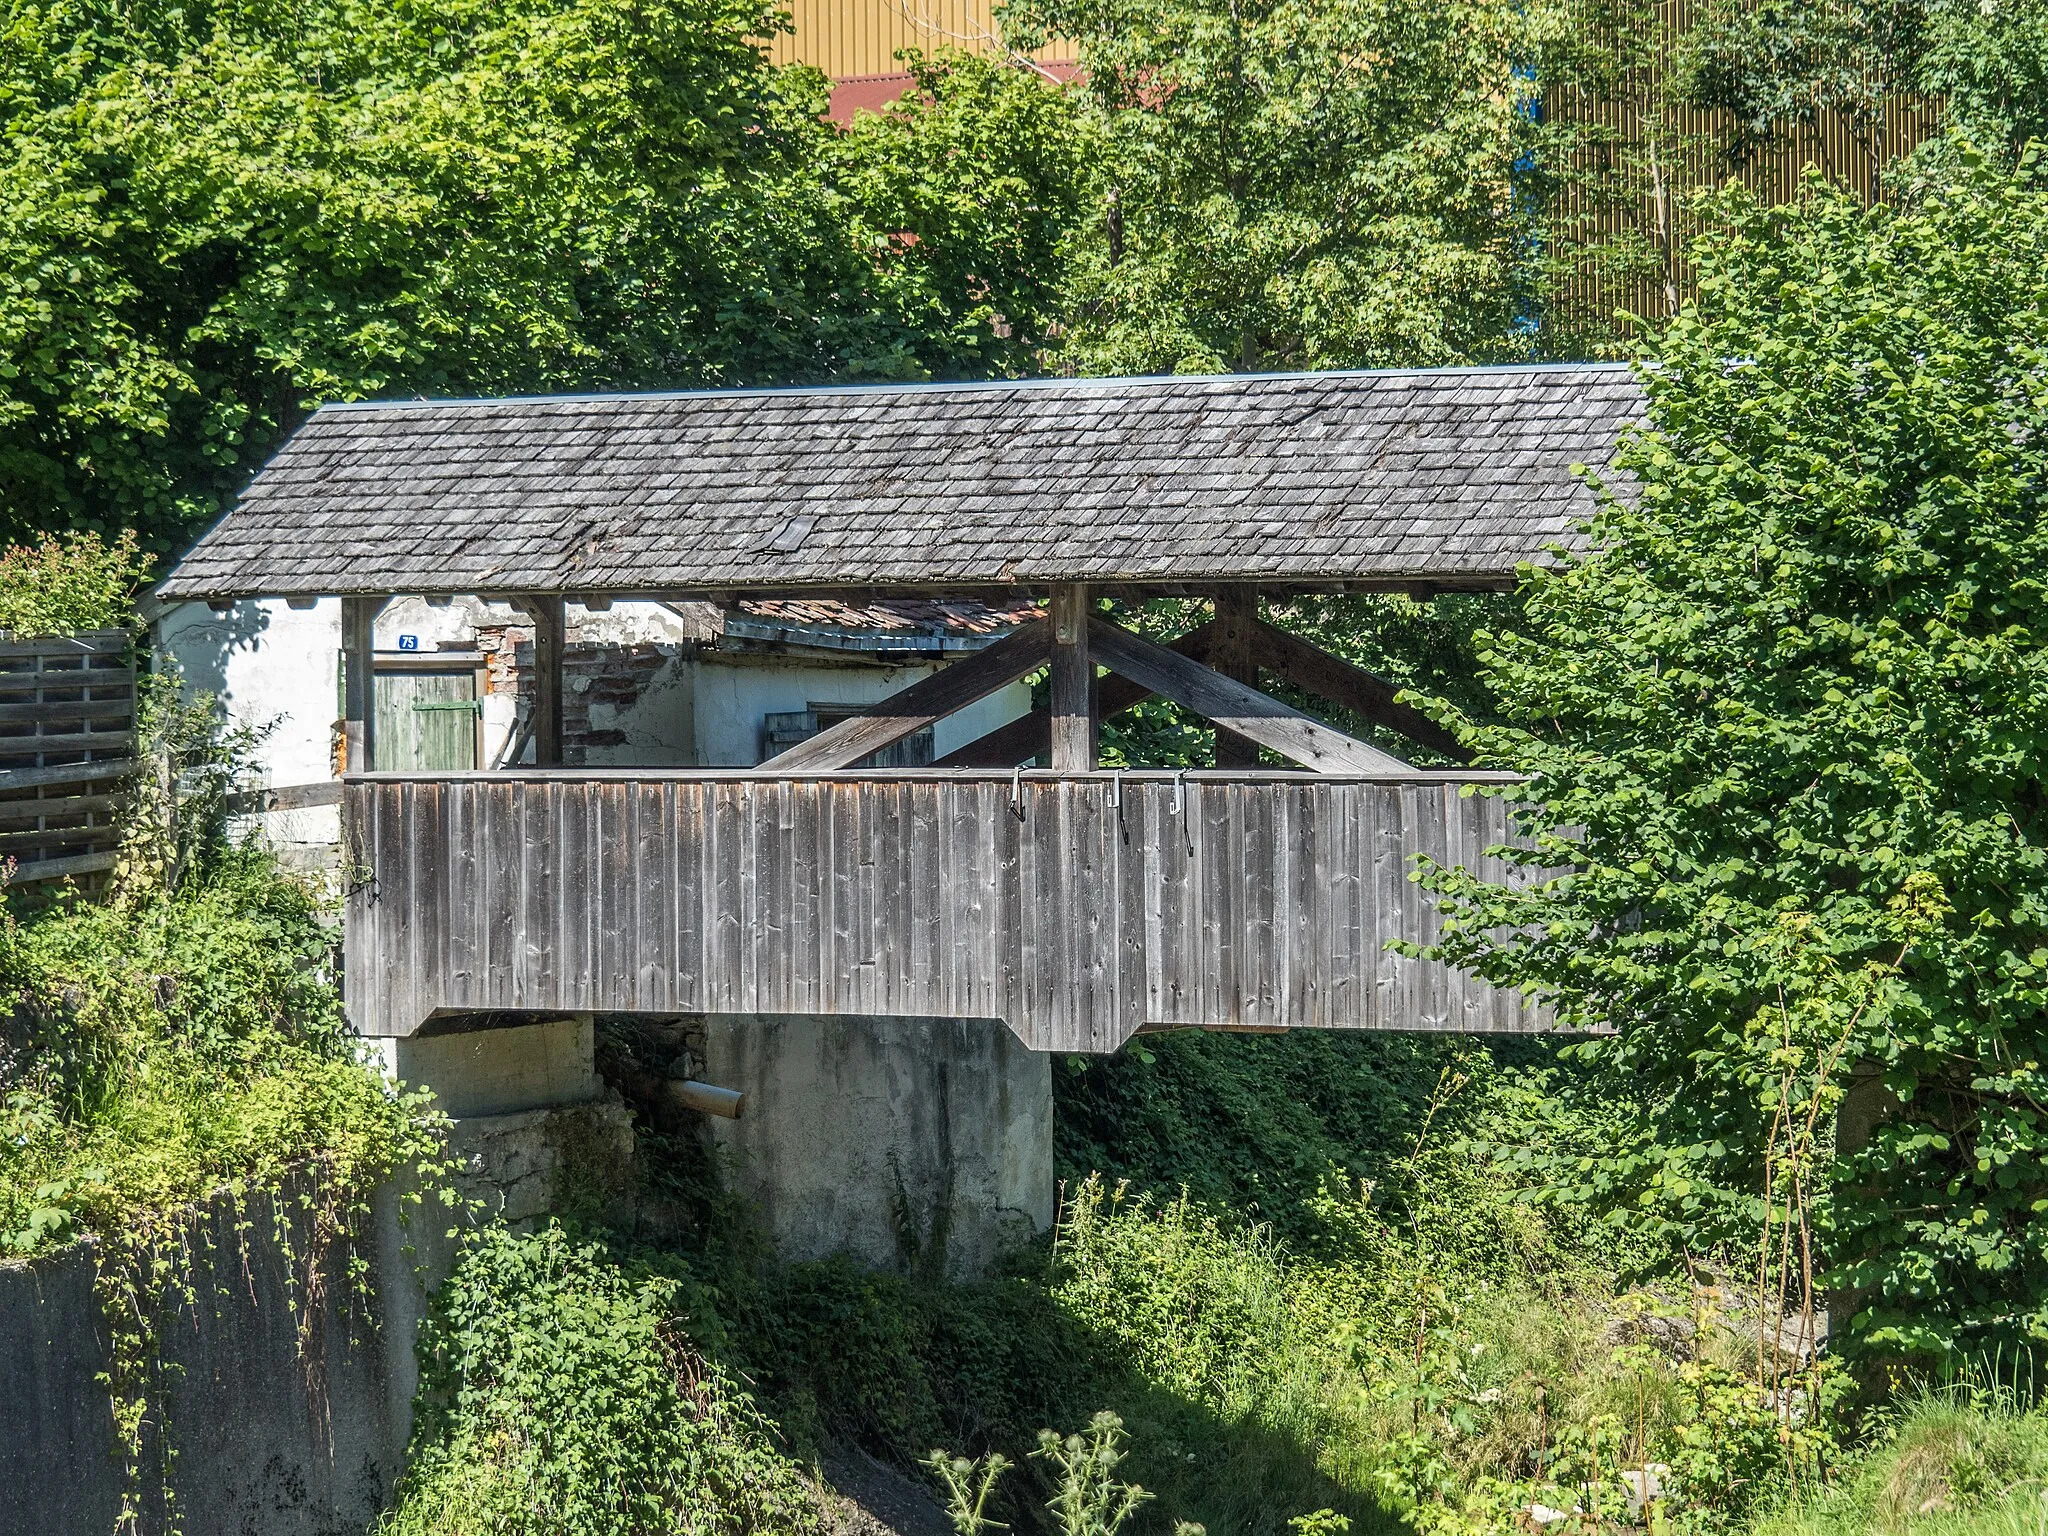
[[1960, 166], [1724, 205], [1640, 489], [1487, 639], [1530, 879], [1436, 877], [1446, 954], [1616, 1028], [1645, 1114], [1563, 1186], [1921, 1356], [2048, 1331], [2048, 193]]

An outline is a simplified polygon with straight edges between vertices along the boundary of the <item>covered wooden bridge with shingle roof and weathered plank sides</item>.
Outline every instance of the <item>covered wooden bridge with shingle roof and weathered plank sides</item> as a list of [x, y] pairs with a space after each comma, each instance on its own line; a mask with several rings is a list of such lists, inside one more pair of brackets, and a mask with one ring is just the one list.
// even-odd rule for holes
[[[1260, 598], [1511, 586], [1638, 410], [1626, 369], [1577, 365], [328, 406], [164, 596], [344, 600], [365, 1034], [559, 1012], [999, 1018], [1040, 1051], [1526, 1030], [1522, 997], [1386, 948], [1434, 934], [1415, 854], [1503, 840], [1468, 793], [1489, 776], [1262, 692], [1456, 756]], [[375, 770], [395, 594], [530, 614], [530, 764]], [[565, 604], [936, 594], [1044, 616], [756, 768], [559, 766]], [[1161, 645], [1100, 604], [1149, 596], [1210, 616]], [[1040, 672], [1042, 707], [940, 762], [858, 766]], [[1155, 694], [1214, 723], [1212, 770], [1098, 766], [1100, 721]]]

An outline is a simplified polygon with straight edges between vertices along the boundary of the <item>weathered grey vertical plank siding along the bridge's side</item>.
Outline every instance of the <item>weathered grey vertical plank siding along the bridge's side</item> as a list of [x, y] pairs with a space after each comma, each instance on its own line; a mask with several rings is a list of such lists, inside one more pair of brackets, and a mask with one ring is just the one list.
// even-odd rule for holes
[[360, 774], [348, 1016], [999, 1018], [1038, 1051], [1141, 1028], [1524, 1032], [1518, 993], [1389, 954], [1415, 854], [1499, 872], [1487, 774], [848, 770]]

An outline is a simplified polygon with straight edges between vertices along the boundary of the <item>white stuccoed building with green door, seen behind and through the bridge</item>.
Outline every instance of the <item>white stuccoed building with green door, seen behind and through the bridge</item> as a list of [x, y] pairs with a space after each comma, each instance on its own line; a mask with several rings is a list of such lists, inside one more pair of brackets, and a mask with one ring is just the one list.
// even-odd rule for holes
[[[637, 602], [565, 606], [563, 760], [586, 768], [752, 768], [1001, 639], [1028, 602]], [[160, 662], [258, 733], [266, 840], [319, 864], [340, 840], [342, 602], [170, 602]], [[397, 598], [375, 621], [377, 768], [465, 772], [535, 758], [532, 623], [483, 598]], [[1010, 688], [891, 748], [942, 758], [1030, 709]]]

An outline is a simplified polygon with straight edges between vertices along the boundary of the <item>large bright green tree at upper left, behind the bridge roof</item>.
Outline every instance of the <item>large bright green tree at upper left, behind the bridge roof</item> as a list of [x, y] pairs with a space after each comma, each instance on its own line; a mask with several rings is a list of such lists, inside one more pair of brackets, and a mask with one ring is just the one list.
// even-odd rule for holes
[[758, 0], [10, 0], [0, 535], [174, 547], [319, 399], [987, 367], [952, 293], [934, 315], [942, 285], [877, 264], [823, 174], [823, 78], [750, 41], [772, 25]]

